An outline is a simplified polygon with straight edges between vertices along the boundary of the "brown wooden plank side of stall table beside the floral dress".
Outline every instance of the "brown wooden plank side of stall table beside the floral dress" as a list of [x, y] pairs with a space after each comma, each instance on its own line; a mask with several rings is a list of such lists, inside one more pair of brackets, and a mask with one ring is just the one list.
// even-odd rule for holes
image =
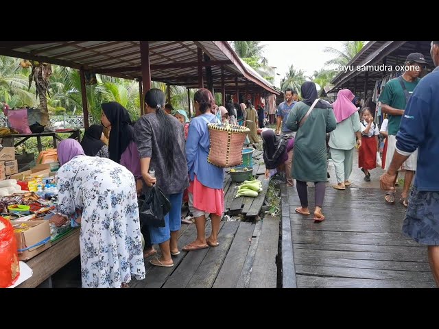
[[25, 263], [34, 272], [17, 288], [35, 288], [50, 278], [73, 258], [80, 255], [80, 228], [74, 228], [59, 240], [51, 243], [51, 247]]

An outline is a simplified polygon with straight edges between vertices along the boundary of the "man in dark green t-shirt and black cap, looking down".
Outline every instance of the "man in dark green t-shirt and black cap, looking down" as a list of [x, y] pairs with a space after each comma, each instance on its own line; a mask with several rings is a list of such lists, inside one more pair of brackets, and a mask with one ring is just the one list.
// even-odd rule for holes
[[[392, 159], [396, 145], [396, 134], [399, 132], [399, 123], [404, 115], [405, 106], [407, 105], [414, 88], [418, 85], [419, 75], [427, 62], [422, 53], [410, 53], [405, 60], [405, 72], [400, 77], [390, 80], [384, 86], [384, 90], [379, 96], [381, 110], [388, 114], [388, 149], [385, 155], [386, 159]], [[407, 207], [408, 193], [412, 184], [413, 176], [416, 171], [416, 162], [418, 160], [418, 151], [408, 158], [401, 170], [405, 170], [404, 188], [401, 194], [400, 202]], [[390, 161], [385, 162], [385, 170], [390, 166]], [[398, 175], [396, 174], [396, 178]], [[396, 182], [395, 178], [395, 182]], [[385, 195], [385, 201], [394, 203], [394, 191], [388, 191]]]

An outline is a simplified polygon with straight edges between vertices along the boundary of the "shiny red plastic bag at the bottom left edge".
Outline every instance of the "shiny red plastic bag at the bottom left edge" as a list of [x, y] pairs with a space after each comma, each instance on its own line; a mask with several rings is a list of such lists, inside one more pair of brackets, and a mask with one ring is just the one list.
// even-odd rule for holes
[[14, 228], [8, 219], [0, 217], [0, 288], [14, 284], [19, 276], [20, 264]]

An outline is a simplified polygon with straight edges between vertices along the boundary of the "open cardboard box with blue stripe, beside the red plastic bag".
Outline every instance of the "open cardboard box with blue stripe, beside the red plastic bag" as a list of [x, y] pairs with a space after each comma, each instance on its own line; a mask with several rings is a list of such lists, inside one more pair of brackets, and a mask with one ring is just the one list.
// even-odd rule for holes
[[49, 221], [21, 221], [12, 222], [12, 225], [21, 223], [32, 226], [29, 230], [15, 233], [20, 260], [29, 260], [50, 247], [50, 225]]

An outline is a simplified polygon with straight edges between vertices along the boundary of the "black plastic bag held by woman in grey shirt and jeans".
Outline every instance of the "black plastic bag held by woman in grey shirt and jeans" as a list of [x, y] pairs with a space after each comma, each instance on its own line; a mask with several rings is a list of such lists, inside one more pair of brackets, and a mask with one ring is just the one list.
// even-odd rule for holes
[[139, 199], [139, 216], [143, 225], [164, 228], [166, 226], [165, 215], [169, 210], [171, 210], [171, 202], [157, 184], [154, 184], [147, 192], [145, 201]]

